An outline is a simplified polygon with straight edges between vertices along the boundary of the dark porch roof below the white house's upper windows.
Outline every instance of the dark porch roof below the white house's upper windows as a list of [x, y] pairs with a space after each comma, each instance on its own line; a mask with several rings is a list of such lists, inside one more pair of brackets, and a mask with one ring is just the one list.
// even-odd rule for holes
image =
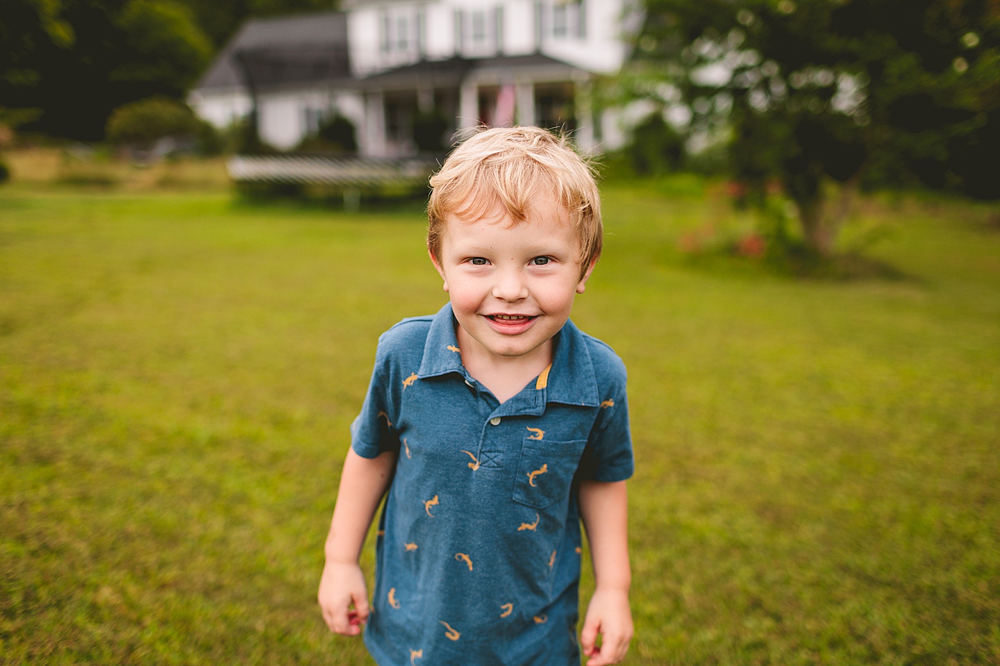
[[509, 72], [525, 69], [550, 70], [559, 78], [568, 78], [577, 68], [561, 60], [540, 53], [491, 58], [462, 58], [447, 60], [421, 60], [387, 72], [373, 74], [361, 81], [366, 88], [412, 89], [418, 85], [434, 88], [458, 87], [470, 74], [488, 71]]

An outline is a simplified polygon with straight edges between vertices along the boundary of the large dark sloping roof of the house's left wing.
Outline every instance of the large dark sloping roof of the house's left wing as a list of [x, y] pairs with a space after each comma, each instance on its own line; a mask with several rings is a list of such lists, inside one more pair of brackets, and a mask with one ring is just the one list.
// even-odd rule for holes
[[256, 88], [349, 79], [347, 16], [320, 12], [251, 19], [229, 41], [196, 90]]

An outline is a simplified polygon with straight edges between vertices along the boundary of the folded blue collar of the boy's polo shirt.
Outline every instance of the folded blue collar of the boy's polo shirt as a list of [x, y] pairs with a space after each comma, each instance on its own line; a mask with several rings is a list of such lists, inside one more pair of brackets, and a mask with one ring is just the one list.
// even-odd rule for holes
[[[431, 320], [431, 328], [424, 343], [424, 356], [417, 376], [421, 379], [439, 377], [457, 372], [468, 377], [462, 365], [462, 355], [458, 351], [455, 336], [455, 315], [451, 303], [445, 303]], [[583, 333], [572, 321], [567, 321], [553, 338], [555, 349], [552, 366], [539, 376], [534, 384], [540, 391], [538, 403], [559, 402], [567, 405], [597, 407], [600, 398], [597, 393], [597, 379], [594, 364]], [[506, 403], [505, 403], [506, 404]]]

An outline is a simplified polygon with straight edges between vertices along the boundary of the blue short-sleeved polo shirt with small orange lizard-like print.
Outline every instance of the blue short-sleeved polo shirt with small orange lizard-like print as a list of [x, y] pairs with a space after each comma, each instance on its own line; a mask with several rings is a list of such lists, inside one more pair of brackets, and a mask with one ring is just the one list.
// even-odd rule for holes
[[625, 366], [566, 322], [500, 403], [462, 365], [451, 305], [380, 338], [354, 451], [398, 454], [365, 643], [380, 666], [579, 664], [579, 479], [632, 475]]

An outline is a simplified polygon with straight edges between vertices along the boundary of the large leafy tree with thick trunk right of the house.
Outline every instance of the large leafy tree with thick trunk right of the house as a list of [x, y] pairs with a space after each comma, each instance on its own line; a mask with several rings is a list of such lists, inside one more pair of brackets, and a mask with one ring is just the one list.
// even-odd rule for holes
[[689, 106], [694, 134], [728, 132], [734, 176], [756, 201], [778, 179], [812, 251], [832, 252], [865, 178], [1000, 197], [997, 160], [970, 164], [1000, 149], [1000, 3], [646, 5], [644, 94]]

